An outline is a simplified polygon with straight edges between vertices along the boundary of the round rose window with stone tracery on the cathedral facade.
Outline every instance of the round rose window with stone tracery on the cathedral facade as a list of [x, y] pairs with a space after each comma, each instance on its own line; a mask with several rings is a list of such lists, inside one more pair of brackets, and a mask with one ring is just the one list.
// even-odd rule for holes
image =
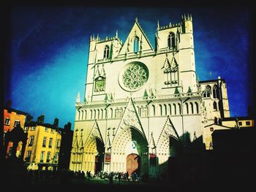
[[128, 64], [121, 74], [121, 85], [129, 91], [137, 91], [147, 80], [148, 69], [142, 63]]

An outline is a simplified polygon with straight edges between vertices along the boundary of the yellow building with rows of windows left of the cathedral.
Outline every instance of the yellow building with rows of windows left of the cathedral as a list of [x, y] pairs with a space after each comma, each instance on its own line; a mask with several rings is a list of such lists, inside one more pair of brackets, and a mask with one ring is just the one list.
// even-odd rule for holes
[[[42, 116], [41, 116], [42, 117]], [[57, 169], [61, 147], [61, 130], [58, 119], [53, 125], [43, 120], [29, 122], [25, 125], [28, 140], [24, 153], [24, 161], [28, 169]]]

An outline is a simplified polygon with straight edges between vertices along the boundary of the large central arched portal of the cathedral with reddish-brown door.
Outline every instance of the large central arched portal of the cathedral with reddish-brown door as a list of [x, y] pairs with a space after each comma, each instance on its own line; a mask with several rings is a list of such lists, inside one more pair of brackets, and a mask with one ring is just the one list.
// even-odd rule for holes
[[[130, 175], [135, 171], [132, 167], [137, 164], [140, 175], [148, 173], [148, 142], [141, 131], [134, 127], [124, 128], [112, 146], [110, 171], [128, 171]], [[129, 171], [127, 167], [132, 169]]]

